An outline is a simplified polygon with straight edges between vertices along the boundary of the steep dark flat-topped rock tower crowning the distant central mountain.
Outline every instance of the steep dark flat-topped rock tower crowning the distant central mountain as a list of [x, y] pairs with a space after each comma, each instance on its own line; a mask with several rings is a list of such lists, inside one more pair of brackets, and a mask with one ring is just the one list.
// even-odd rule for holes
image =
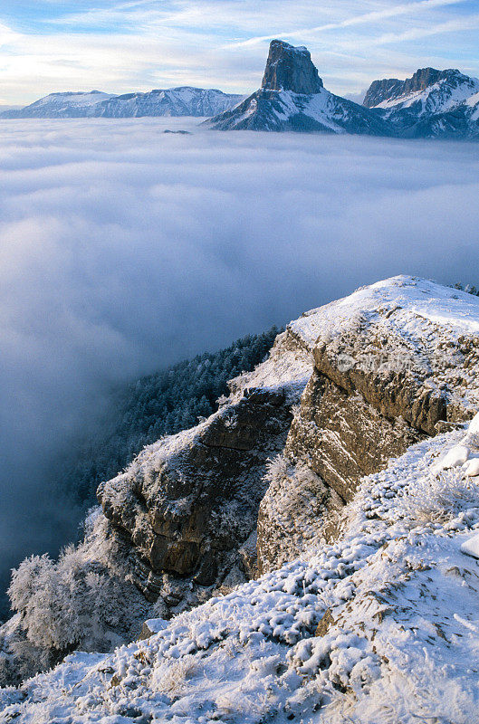
[[322, 81], [311, 61], [311, 53], [306, 48], [294, 47], [282, 40], [272, 40], [262, 88], [292, 90], [294, 93], [311, 95], [321, 91]]

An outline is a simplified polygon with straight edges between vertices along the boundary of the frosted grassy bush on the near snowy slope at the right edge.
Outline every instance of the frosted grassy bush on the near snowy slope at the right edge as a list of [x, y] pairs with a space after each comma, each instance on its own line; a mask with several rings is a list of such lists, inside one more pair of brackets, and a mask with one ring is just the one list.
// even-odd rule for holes
[[420, 478], [398, 500], [400, 513], [411, 522], [442, 523], [479, 505], [479, 484], [457, 469]]

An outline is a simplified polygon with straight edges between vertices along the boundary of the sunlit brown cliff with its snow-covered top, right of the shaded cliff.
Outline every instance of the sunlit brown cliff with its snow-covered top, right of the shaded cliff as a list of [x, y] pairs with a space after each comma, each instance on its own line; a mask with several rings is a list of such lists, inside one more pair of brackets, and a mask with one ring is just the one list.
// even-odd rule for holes
[[460, 334], [450, 323], [455, 291], [441, 300], [431, 282], [384, 284], [292, 323], [291, 333], [316, 338], [314, 370], [260, 506], [260, 573], [331, 536], [364, 476], [479, 407], [479, 325]]

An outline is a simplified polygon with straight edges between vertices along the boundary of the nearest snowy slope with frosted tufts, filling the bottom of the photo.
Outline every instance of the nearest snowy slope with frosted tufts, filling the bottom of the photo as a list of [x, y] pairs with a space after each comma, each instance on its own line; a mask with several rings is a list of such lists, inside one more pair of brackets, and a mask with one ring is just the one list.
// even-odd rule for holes
[[461, 545], [479, 530], [479, 486], [435, 472], [463, 435], [366, 478], [337, 542], [150, 624], [148, 640], [0, 691], [3, 720], [474, 724], [479, 573]]

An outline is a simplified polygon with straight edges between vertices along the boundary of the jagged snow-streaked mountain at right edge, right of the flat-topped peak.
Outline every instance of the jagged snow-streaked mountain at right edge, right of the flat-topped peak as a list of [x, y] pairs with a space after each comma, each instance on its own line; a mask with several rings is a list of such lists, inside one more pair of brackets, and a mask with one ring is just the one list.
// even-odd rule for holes
[[454, 69], [423, 68], [406, 81], [374, 81], [364, 106], [397, 136], [479, 138], [479, 80]]

